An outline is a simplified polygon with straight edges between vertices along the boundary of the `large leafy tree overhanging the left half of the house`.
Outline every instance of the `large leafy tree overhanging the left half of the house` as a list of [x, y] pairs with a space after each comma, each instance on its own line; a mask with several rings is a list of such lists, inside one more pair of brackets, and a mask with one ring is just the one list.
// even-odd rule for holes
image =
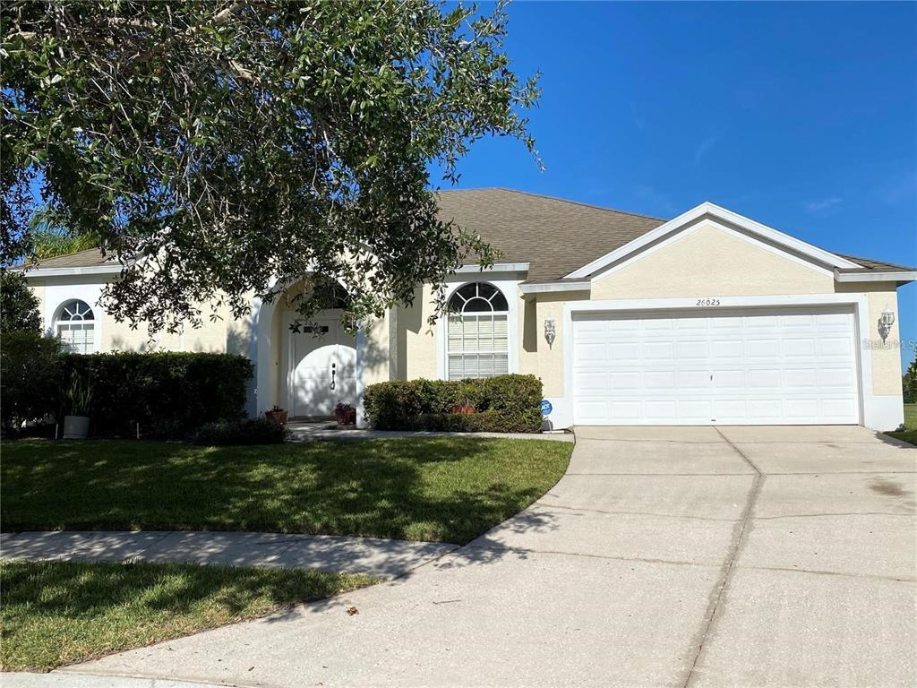
[[534, 153], [506, 20], [428, 0], [6, 0], [0, 258], [28, 255], [42, 207], [124, 262], [105, 305], [153, 329], [204, 302], [240, 316], [308, 273], [356, 318], [410, 301], [490, 256], [437, 219], [431, 167], [454, 180], [489, 135]]

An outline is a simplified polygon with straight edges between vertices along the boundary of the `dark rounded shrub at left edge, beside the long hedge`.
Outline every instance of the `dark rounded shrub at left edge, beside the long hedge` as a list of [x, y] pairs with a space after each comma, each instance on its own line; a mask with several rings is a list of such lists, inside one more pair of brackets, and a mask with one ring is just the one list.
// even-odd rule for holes
[[61, 389], [61, 341], [18, 330], [0, 336], [0, 418], [3, 427], [54, 414]]

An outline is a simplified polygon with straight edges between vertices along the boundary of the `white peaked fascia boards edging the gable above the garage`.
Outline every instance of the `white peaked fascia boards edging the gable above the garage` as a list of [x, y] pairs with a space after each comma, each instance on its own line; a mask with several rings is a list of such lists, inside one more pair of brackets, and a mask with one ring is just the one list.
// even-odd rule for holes
[[835, 255], [830, 251], [819, 249], [817, 246], [812, 246], [812, 244], [806, 243], [805, 241], [794, 239], [793, 237], [790, 237], [789, 234], [784, 234], [783, 232], [779, 232], [777, 229], [762, 225], [760, 222], [756, 222], [755, 220], [746, 216], [741, 216], [731, 210], [726, 210], [719, 205], [705, 202], [701, 205], [696, 205], [695, 207], [691, 208], [691, 210], [686, 213], [682, 213], [678, 217], [674, 217], [673, 219], [668, 220], [668, 222], [660, 225], [659, 227], [656, 227], [656, 229], [646, 232], [646, 234], [627, 242], [624, 244], [624, 246], [606, 253], [602, 256], [602, 258], [596, 259], [595, 261], [584, 265], [579, 270], [575, 270], [567, 275], [564, 275], [564, 277], [568, 279], [581, 279], [583, 277], [588, 277], [593, 272], [602, 270], [602, 268], [605, 266], [610, 265], [615, 261], [621, 260], [625, 256], [644, 248], [646, 245], [651, 244], [654, 241], [657, 241], [657, 239], [665, 237], [667, 234], [677, 230], [679, 227], [687, 225], [705, 215], [719, 217], [720, 219], [734, 224], [737, 227], [746, 229], [746, 231], [769, 239], [770, 241], [773, 241], [779, 245], [786, 246], [788, 249], [798, 251], [803, 255], [809, 256], [815, 261], [827, 263], [834, 268], [862, 267], [861, 265], [857, 265], [855, 262], [847, 261], [845, 258], [841, 258], [840, 256]]

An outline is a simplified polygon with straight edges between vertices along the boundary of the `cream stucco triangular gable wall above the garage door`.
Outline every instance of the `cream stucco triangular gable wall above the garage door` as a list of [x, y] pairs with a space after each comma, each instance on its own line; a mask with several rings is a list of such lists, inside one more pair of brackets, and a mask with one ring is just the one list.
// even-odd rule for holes
[[830, 294], [831, 274], [702, 223], [592, 285], [592, 299]]

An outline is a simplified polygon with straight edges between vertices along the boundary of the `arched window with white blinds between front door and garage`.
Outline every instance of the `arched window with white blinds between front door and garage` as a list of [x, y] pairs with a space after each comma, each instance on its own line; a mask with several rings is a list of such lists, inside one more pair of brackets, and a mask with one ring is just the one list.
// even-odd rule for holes
[[465, 284], [449, 297], [449, 380], [509, 372], [508, 310], [506, 297], [486, 282]]

